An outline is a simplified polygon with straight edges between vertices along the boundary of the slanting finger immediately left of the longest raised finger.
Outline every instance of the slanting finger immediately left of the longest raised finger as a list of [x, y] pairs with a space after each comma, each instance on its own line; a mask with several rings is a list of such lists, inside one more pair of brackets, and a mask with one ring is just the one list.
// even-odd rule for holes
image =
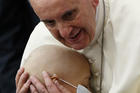
[[31, 76], [30, 80], [39, 93], [48, 93], [45, 86], [35, 76]]

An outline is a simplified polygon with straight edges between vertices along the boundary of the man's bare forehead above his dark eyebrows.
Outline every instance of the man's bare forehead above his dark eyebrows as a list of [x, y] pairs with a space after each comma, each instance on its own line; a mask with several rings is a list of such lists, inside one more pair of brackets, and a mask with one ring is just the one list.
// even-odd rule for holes
[[[39, 16], [62, 14], [63, 11], [76, 7], [82, 0], [31, 0], [32, 7]], [[55, 13], [55, 14], [54, 14]]]

